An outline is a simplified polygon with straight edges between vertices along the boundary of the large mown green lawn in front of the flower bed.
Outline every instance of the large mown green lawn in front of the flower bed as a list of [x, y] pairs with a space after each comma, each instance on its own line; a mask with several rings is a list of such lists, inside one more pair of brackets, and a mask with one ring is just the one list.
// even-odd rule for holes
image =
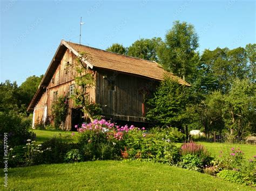
[[254, 190], [207, 174], [139, 161], [12, 168], [8, 178], [12, 190]]

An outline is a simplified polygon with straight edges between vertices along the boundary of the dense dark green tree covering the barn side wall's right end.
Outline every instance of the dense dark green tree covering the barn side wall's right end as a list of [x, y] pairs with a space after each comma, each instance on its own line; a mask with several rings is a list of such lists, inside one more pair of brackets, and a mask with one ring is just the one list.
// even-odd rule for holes
[[153, 121], [160, 126], [173, 126], [182, 129], [187, 121], [185, 112], [188, 103], [189, 89], [173, 81], [170, 77], [165, 77], [160, 86], [147, 103], [150, 108], [146, 114], [148, 121]]

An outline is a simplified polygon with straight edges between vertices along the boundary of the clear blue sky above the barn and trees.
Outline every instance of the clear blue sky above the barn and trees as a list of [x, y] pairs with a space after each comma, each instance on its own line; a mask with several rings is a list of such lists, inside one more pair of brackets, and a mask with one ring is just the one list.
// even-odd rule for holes
[[105, 49], [164, 39], [174, 20], [194, 25], [199, 51], [255, 43], [254, 1], [1, 1], [0, 80], [44, 74], [60, 40]]

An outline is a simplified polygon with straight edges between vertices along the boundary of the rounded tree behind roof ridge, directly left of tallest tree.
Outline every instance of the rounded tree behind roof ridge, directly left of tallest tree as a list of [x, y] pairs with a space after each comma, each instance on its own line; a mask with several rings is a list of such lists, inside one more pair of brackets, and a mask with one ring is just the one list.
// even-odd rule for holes
[[127, 55], [145, 60], [158, 61], [157, 48], [163, 43], [161, 38], [136, 40], [129, 48]]

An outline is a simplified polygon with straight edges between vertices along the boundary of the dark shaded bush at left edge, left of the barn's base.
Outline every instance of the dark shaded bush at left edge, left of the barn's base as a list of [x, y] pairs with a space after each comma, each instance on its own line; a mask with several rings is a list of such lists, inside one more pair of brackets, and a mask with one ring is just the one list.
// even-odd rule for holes
[[8, 133], [8, 146], [23, 145], [27, 139], [35, 139], [35, 133], [29, 131], [30, 121], [22, 118], [16, 112], [0, 112], [0, 143], [3, 145], [3, 135]]

